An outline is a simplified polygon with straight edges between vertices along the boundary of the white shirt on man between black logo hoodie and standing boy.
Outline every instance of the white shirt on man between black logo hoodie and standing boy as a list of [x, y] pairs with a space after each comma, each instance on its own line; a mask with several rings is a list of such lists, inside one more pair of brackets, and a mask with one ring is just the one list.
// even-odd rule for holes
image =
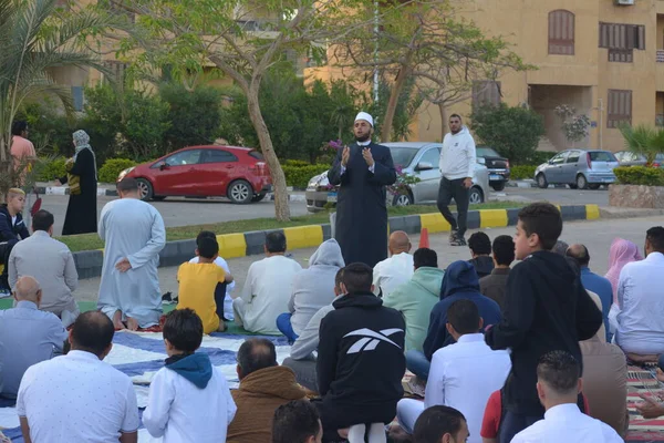
[[487, 401], [505, 384], [511, 369], [509, 353], [494, 351], [483, 333], [467, 333], [437, 350], [426, 383], [424, 408], [446, 405], [460, 411], [468, 423], [469, 443], [481, 443], [479, 431]]

